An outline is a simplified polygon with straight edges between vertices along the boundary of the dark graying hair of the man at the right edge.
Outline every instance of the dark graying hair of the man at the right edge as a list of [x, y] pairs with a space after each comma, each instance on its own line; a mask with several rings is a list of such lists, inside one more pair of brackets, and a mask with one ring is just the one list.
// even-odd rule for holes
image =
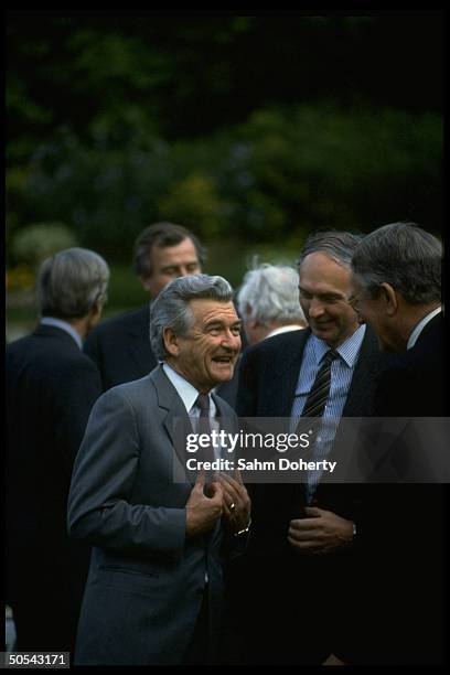
[[372, 297], [386, 282], [410, 304], [441, 301], [442, 244], [416, 223], [389, 223], [365, 236], [352, 269]]

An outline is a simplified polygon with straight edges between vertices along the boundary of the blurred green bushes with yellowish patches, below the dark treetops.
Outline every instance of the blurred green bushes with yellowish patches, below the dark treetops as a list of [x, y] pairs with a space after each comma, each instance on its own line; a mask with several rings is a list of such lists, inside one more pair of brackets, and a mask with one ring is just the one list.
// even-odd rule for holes
[[10, 239], [30, 222], [63, 222], [82, 246], [128, 264], [137, 234], [158, 219], [206, 243], [288, 248], [323, 227], [442, 223], [437, 114], [322, 101], [262, 108], [245, 124], [173, 143], [131, 122], [122, 142], [89, 133], [58, 128], [28, 165], [9, 168]]

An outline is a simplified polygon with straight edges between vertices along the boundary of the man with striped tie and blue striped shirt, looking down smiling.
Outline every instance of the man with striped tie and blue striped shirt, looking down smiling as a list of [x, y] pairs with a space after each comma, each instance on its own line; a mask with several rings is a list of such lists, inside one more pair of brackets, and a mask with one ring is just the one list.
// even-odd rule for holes
[[[300, 304], [306, 330], [265, 340], [244, 352], [237, 413], [242, 417], [303, 414], [318, 373], [329, 369], [324, 420], [367, 415], [381, 367], [374, 335], [347, 303], [350, 262], [360, 237], [323, 232], [309, 237], [299, 260]], [[332, 351], [330, 351], [332, 350]], [[334, 441], [336, 442], [339, 430]], [[332, 440], [318, 439], [314, 459], [331, 458]], [[248, 663], [333, 663], [340, 649], [338, 614], [353, 592], [358, 497], [352, 485], [254, 484], [248, 555], [236, 565], [244, 580], [240, 612], [251, 626], [245, 638]], [[345, 590], [344, 597], [340, 590]], [[255, 611], [258, 596], [265, 613]], [[259, 602], [261, 602], [259, 600]]]

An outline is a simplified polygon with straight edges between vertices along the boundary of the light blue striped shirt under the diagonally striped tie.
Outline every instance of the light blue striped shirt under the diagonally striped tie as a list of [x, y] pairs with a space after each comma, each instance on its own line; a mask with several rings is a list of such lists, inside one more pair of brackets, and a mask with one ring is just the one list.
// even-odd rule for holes
[[[326, 459], [333, 446], [334, 436], [344, 409], [365, 330], [365, 324], [360, 325], [353, 335], [335, 347], [340, 357], [335, 358], [331, 365], [330, 394], [323, 413], [323, 424], [314, 443], [313, 456], [311, 458], [312, 461]], [[301, 417], [308, 394], [322, 365], [322, 358], [329, 350], [330, 345], [326, 344], [326, 342], [311, 333], [304, 346], [303, 358], [296, 387], [296, 396], [292, 404], [292, 431], [296, 429], [298, 420]], [[322, 471], [320, 470], [308, 471], [308, 502], [311, 501], [315, 492], [321, 473]]]

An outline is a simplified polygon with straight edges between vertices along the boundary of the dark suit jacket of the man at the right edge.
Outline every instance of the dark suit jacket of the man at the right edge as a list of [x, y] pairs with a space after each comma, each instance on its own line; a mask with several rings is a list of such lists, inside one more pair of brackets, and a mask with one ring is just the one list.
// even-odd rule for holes
[[[437, 452], [438, 444], [448, 457], [448, 438], [437, 432], [443, 428], [437, 418], [446, 413], [443, 317], [438, 314], [414, 347], [394, 355], [375, 396], [375, 439], [379, 418], [399, 418], [404, 428], [387, 444], [386, 458], [399, 471], [405, 465], [408, 473], [389, 484], [383, 482], [383, 475], [376, 483], [373, 475], [371, 484], [365, 485], [362, 566], [366, 580], [361, 581], [361, 593], [354, 598], [355, 622], [349, 645], [356, 662], [443, 662], [443, 514], [448, 485], [422, 482], [426, 479], [418, 471], [413, 474], [417, 479], [407, 476], [411, 475], [408, 460], [413, 470], [415, 462], [424, 462], [428, 473], [427, 454]], [[411, 429], [417, 430], [417, 440]], [[428, 441], [424, 429], [430, 430]], [[363, 436], [360, 457], [362, 452], [367, 456], [373, 447]], [[383, 443], [378, 447], [383, 449]], [[387, 463], [372, 461], [383, 474]]]

